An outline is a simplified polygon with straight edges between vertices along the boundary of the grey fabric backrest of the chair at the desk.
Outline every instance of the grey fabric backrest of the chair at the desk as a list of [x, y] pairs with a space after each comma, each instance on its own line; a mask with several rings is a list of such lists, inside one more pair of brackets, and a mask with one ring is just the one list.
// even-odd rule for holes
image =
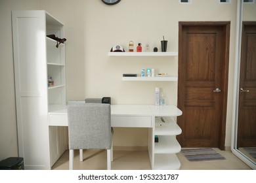
[[68, 105], [69, 149], [110, 149], [111, 108], [102, 103]]

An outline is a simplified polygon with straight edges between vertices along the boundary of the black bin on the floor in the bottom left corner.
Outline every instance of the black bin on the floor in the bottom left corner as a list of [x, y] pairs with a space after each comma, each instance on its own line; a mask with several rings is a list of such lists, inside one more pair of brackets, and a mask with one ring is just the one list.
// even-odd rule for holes
[[0, 170], [24, 170], [24, 159], [10, 157], [0, 161]]

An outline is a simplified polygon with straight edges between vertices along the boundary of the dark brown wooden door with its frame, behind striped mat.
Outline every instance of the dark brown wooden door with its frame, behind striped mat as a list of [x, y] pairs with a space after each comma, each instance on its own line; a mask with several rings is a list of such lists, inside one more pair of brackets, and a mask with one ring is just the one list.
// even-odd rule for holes
[[182, 147], [224, 149], [230, 22], [179, 23]]

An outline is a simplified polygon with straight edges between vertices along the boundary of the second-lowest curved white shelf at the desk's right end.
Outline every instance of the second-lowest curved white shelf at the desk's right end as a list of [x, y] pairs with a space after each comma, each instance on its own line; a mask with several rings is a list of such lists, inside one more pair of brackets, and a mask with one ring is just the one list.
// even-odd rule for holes
[[158, 139], [158, 142], [155, 142], [154, 154], [176, 154], [181, 151], [176, 136], [158, 136]]

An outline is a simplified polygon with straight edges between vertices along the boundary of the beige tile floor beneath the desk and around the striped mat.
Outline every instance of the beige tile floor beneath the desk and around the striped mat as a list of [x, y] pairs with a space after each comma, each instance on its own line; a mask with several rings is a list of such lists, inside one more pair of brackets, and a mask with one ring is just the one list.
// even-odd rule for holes
[[[249, 170], [243, 161], [237, 158], [230, 150], [219, 150], [215, 148], [224, 160], [216, 161], [188, 161], [181, 153], [177, 154], [181, 161], [182, 170]], [[83, 162], [79, 162], [79, 151], [75, 150], [74, 169], [104, 170], [106, 169], [106, 150], [84, 150]], [[53, 170], [68, 169], [68, 151], [58, 159], [54, 164]], [[114, 150], [114, 161], [112, 161], [112, 170], [148, 170], [150, 160], [146, 150]]]

